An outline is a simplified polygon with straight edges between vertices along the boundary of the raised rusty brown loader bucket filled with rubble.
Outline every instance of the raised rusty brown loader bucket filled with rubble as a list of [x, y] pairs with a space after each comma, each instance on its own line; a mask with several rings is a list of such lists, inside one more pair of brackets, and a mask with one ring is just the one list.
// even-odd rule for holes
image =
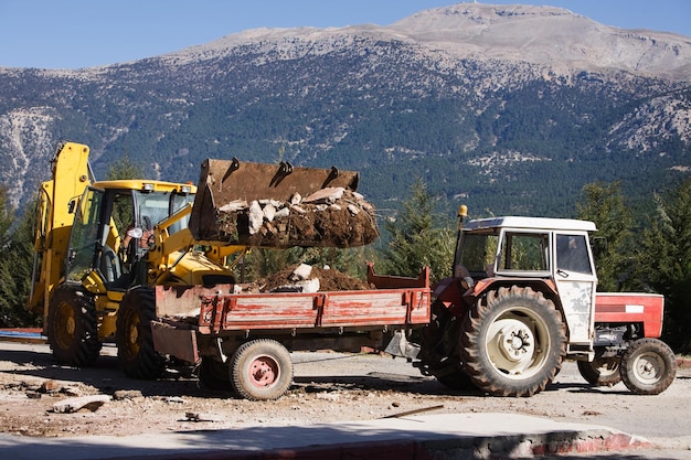
[[190, 231], [201, 244], [352, 247], [379, 236], [359, 174], [233, 160], [202, 164]]

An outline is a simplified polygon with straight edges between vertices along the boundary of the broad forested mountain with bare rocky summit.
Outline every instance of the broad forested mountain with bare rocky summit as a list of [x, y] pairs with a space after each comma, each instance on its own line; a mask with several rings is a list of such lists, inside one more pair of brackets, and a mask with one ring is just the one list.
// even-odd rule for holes
[[450, 210], [572, 216], [586, 183], [620, 180], [644, 203], [689, 176], [691, 39], [459, 3], [103, 67], [0, 67], [0, 180], [17, 203], [61, 139], [92, 147], [97, 176], [124, 154], [174, 181], [205, 158], [285, 160], [360, 171], [384, 214], [422, 178]]

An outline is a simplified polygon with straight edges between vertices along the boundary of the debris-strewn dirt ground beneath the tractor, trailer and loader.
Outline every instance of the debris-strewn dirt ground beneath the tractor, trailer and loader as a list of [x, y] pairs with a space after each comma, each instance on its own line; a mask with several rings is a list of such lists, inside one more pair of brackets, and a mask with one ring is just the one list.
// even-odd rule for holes
[[[661, 395], [630, 394], [623, 384], [592, 388], [567, 363], [557, 379], [530, 398], [495, 398], [453, 392], [422, 376], [405, 360], [375, 354], [294, 353], [295, 383], [275, 402], [248, 402], [200, 387], [193, 376], [170, 373], [157, 382], [127, 378], [115, 349], [96, 366], [60, 366], [43, 344], [0, 342], [0, 430], [64, 437], [365, 420], [421, 411], [517, 413], [604, 425], [644, 436], [691, 439], [687, 419], [691, 372], [680, 370]], [[56, 403], [100, 395], [108, 399], [74, 413]]]

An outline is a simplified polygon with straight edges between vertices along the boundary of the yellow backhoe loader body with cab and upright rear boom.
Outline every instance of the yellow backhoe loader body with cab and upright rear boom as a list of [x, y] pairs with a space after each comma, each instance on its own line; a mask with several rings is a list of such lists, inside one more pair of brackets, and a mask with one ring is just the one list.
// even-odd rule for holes
[[[109, 336], [126, 342], [118, 344], [118, 353], [120, 347], [132, 351], [130, 342], [137, 342], [145, 322], [134, 315], [118, 319], [118, 312], [134, 287], [149, 293], [158, 285], [234, 282], [221, 257], [213, 261], [195, 252], [188, 229], [195, 186], [95, 182], [88, 147], [74, 142], [59, 146], [52, 167], [53, 178], [42, 184], [39, 200], [29, 308], [43, 313], [44, 334], [60, 362], [92, 364]], [[129, 304], [138, 311], [139, 306]], [[116, 336], [117, 328], [123, 331]]]

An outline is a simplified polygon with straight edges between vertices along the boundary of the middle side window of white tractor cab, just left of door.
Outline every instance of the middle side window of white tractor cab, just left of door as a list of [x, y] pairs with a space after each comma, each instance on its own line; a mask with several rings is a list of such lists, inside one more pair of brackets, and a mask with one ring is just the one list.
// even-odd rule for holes
[[497, 271], [548, 271], [549, 234], [504, 232]]

